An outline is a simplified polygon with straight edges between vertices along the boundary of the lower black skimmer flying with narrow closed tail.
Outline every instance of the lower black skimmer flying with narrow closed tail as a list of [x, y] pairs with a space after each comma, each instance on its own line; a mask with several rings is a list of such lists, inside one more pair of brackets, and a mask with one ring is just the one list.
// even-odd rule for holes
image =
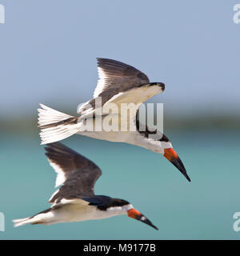
[[94, 162], [60, 142], [47, 145], [46, 156], [57, 173], [56, 186], [62, 186], [51, 196], [50, 209], [30, 218], [15, 219], [14, 226], [82, 222], [126, 214], [158, 230], [130, 202], [94, 194], [94, 184], [102, 174]]

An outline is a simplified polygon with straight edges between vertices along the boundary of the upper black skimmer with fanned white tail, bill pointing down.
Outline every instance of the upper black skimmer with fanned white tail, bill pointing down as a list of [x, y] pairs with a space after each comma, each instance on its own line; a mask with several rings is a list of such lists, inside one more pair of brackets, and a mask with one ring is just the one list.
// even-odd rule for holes
[[[165, 89], [164, 83], [150, 82], [146, 74], [133, 66], [107, 58], [98, 58], [98, 76], [94, 98], [78, 107], [78, 117], [63, 114], [40, 104], [42, 108], [38, 109], [38, 126], [41, 129], [42, 144], [58, 142], [73, 134], [81, 134], [111, 142], [130, 143], [163, 154], [190, 182], [186, 169], [178, 154], [174, 151], [170, 140], [159, 130], [150, 130], [146, 125], [145, 129], [144, 127], [141, 130], [139, 129], [141, 126], [138, 121], [139, 106], [154, 95], [162, 93]], [[86, 120], [92, 120], [95, 127], [99, 118], [106, 117], [106, 115], [111, 117], [116, 115], [114, 111], [111, 114], [103, 112], [99, 114], [98, 107], [95, 107], [98, 98], [101, 98], [102, 109], [104, 107], [107, 109], [112, 103], [117, 105], [118, 108], [122, 103], [134, 103], [134, 114], [130, 118], [125, 118], [123, 122], [126, 122], [126, 127], [129, 127], [131, 122], [135, 129], [127, 131], [121, 129], [117, 131], [82, 130]], [[118, 118], [121, 118], [119, 114], [117, 115]], [[152, 136], [154, 134], [158, 136]]]

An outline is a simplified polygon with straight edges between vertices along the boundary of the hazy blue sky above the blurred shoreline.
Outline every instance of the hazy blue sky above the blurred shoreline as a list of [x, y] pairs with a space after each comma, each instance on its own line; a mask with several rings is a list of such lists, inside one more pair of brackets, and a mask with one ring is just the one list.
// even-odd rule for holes
[[166, 90], [174, 114], [240, 110], [238, 0], [0, 0], [0, 116], [38, 102], [75, 113], [97, 82], [96, 57], [137, 67]]

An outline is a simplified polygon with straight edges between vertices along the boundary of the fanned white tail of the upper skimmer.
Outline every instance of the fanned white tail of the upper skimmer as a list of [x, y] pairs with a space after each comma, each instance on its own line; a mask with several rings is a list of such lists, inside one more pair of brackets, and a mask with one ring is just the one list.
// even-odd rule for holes
[[40, 104], [38, 126], [41, 129], [41, 144], [61, 141], [78, 132], [78, 118], [53, 110]]

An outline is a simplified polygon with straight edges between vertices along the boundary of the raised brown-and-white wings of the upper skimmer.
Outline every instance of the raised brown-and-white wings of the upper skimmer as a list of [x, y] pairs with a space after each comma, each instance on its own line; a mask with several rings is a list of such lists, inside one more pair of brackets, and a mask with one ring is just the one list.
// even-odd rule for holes
[[161, 86], [150, 84], [146, 74], [133, 66], [108, 58], [97, 58], [97, 60], [99, 79], [94, 90], [94, 98], [78, 106], [78, 114], [92, 114], [98, 107], [95, 105], [96, 98], [101, 98], [101, 106], [106, 106], [108, 103], [140, 105], [148, 98], [162, 92]]

